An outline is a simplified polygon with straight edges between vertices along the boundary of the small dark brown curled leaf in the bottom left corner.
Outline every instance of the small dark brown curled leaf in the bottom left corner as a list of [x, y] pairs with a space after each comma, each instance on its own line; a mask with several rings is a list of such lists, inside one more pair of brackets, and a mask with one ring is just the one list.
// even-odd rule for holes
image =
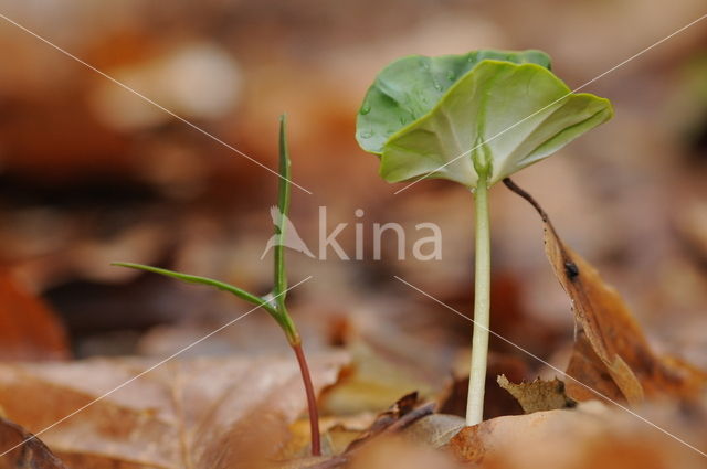
[[19, 425], [0, 418], [0, 450], [4, 451], [4, 448], [11, 448], [25, 440], [23, 447], [0, 457], [0, 469], [66, 469], [39, 438]]

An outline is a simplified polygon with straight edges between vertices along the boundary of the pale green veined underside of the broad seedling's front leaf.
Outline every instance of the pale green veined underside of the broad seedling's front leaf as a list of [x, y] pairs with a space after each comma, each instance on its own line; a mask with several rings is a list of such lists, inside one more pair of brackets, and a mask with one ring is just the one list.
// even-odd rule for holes
[[476, 160], [488, 166], [490, 185], [612, 116], [608, 99], [572, 94], [541, 65], [484, 60], [387, 137], [380, 173], [389, 182], [443, 178], [474, 189]]

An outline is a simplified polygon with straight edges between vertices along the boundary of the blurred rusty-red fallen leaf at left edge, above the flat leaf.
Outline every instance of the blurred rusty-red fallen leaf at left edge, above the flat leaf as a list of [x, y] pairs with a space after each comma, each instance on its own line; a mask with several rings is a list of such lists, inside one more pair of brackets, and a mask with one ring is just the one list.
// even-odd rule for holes
[[68, 358], [66, 334], [50, 307], [0, 271], [0, 359]]

